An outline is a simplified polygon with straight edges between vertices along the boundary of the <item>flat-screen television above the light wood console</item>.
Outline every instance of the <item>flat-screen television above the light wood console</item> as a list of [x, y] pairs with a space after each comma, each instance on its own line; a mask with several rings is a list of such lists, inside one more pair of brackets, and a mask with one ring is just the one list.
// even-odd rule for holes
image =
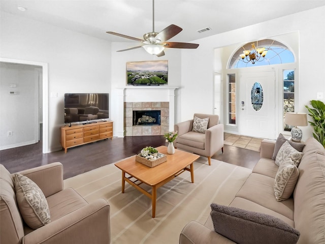
[[64, 94], [64, 123], [91, 123], [109, 118], [108, 93]]

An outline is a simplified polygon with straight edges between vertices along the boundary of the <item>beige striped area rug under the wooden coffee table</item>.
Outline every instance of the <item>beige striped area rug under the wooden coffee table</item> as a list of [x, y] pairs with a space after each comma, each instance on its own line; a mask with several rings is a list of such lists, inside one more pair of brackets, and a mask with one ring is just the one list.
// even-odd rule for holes
[[[184, 172], [157, 190], [156, 218], [151, 200], [125, 184], [114, 164], [64, 180], [88, 202], [104, 198], [110, 205], [111, 243], [178, 243], [179, 234], [191, 220], [202, 224], [210, 215], [210, 204], [228, 205], [251, 173], [250, 169], [200, 157], [194, 162], [194, 183]], [[144, 187], [142, 185], [142, 187]], [[147, 188], [150, 189], [150, 188]]]

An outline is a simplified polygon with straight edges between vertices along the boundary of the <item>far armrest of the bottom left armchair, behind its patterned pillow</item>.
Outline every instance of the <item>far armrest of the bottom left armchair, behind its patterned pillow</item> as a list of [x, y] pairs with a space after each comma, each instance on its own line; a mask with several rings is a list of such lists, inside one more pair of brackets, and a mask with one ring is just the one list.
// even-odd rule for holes
[[36, 168], [18, 172], [34, 181], [45, 197], [63, 190], [63, 166], [61, 163], [51, 163]]

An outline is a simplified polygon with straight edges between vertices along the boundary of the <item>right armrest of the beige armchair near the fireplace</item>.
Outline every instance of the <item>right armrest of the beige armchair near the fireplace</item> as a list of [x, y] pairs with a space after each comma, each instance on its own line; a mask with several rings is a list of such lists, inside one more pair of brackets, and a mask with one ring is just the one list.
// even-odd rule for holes
[[210, 149], [210, 155], [214, 155], [223, 147], [223, 124], [210, 127], [205, 135], [205, 147]]

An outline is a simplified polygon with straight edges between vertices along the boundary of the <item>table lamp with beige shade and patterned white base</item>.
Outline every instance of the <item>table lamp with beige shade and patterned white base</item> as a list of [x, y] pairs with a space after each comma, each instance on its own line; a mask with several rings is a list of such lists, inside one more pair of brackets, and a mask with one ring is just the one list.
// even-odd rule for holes
[[284, 123], [289, 126], [295, 126], [291, 128], [291, 139], [296, 142], [300, 142], [303, 138], [303, 132], [297, 126], [307, 126], [307, 113], [291, 113], [286, 112]]

